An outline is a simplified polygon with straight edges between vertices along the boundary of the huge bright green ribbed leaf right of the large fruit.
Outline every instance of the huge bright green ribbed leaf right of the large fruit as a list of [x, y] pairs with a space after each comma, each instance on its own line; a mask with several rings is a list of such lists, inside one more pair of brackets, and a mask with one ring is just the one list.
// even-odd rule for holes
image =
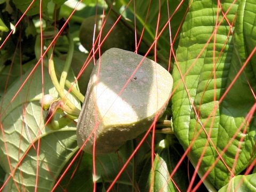
[[[175, 63], [173, 69], [173, 87], [178, 86], [172, 98], [174, 131], [183, 148], [187, 149], [191, 144], [188, 155], [194, 165], [197, 164], [205, 150], [199, 167], [201, 175], [218, 158], [216, 148], [221, 153], [233, 137], [234, 141], [222, 155], [230, 170], [234, 166], [234, 173], [240, 173], [250, 163], [250, 159], [255, 156], [253, 148], [255, 145], [255, 118], [252, 119], [248, 127], [245, 123], [245, 117], [255, 103], [249, 86], [250, 83], [255, 92], [255, 60], [251, 60], [247, 64], [225, 99], [221, 103], [219, 102], [255, 46], [255, 1], [236, 1], [233, 4], [232, 0], [226, 0], [221, 1], [221, 7], [224, 13], [230, 9], [227, 14], [230, 23], [233, 22], [237, 14], [236, 24], [233, 27], [234, 35], [228, 36], [230, 28], [226, 19], [223, 19], [217, 2], [193, 1], [182, 26], [177, 50], [178, 63]], [[214, 32], [217, 12], [219, 13], [218, 21], [220, 22], [222, 19], [223, 21], [216, 32], [215, 43], [213, 36], [210, 43], [206, 44]], [[249, 43], [254, 44], [250, 45]], [[215, 58], [213, 58], [214, 49]], [[202, 50], [202, 54], [199, 54]], [[213, 76], [213, 59], [216, 62], [215, 77]], [[190, 67], [191, 69], [188, 71]], [[188, 92], [185, 84], [181, 81], [181, 75], [184, 76], [185, 73], [187, 74], [184, 81]], [[216, 89], [214, 89], [214, 83]], [[214, 94], [216, 100], [214, 100]], [[199, 119], [196, 117], [192, 104], [195, 106]], [[215, 113], [213, 113], [214, 107], [217, 107]], [[209, 116], [210, 118], [208, 118]], [[204, 124], [212, 142], [207, 142], [206, 133], [202, 131], [199, 121]], [[242, 129], [238, 130], [240, 126]], [[201, 133], [196, 138], [198, 131]], [[234, 136], [237, 131], [238, 134]], [[237, 153], [238, 157], [235, 158]], [[229, 177], [230, 172], [220, 160], [206, 180], [219, 189], [228, 183]]]

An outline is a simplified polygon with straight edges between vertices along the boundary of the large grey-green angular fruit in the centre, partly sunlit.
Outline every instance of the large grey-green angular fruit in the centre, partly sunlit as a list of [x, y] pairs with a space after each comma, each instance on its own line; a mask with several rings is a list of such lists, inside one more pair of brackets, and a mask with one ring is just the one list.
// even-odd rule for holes
[[[81, 147], [93, 131], [97, 154], [114, 152], [127, 140], [138, 137], [150, 127], [156, 114], [159, 117], [163, 114], [172, 84], [171, 74], [156, 62], [121, 49], [106, 51], [100, 65], [97, 61], [87, 87], [77, 123], [78, 146]], [[92, 153], [93, 142], [92, 134], [83, 150]]]

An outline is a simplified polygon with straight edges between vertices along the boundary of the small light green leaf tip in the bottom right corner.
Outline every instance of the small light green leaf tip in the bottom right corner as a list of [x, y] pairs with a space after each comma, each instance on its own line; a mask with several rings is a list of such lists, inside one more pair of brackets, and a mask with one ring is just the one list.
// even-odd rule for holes
[[256, 191], [256, 174], [237, 175], [219, 190], [219, 192], [225, 191]]

